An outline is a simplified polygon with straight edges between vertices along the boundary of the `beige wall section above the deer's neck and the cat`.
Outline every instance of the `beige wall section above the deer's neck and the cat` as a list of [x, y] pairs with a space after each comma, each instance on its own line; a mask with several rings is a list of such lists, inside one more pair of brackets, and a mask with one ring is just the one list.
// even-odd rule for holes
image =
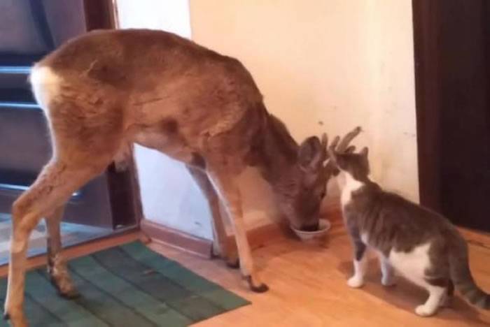
[[190, 0], [190, 22], [194, 41], [245, 64], [298, 141], [359, 124], [373, 178], [418, 201], [411, 2]]

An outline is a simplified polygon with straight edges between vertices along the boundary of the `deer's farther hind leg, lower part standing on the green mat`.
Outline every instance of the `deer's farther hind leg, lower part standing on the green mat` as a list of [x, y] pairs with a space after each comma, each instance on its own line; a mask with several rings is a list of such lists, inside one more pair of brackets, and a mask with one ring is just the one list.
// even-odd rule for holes
[[62, 256], [62, 242], [59, 225], [63, 217], [64, 205], [60, 205], [52, 215], [45, 218], [48, 229], [48, 274], [51, 282], [58, 290], [59, 295], [64, 298], [76, 298], [76, 291], [71, 277], [66, 268], [66, 261]]

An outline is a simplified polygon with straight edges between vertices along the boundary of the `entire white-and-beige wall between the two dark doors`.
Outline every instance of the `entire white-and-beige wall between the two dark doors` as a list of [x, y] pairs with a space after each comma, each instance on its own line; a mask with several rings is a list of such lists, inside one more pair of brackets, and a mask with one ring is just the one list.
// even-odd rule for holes
[[[120, 25], [175, 31], [237, 57], [298, 140], [360, 124], [373, 177], [418, 201], [410, 0], [118, 0]], [[190, 24], [189, 24], [190, 21]], [[181, 163], [137, 148], [148, 219], [211, 238], [209, 209]], [[328, 204], [336, 203], [335, 184]], [[248, 226], [276, 215], [255, 170], [241, 176]], [[190, 221], [190, 222], [189, 222]]]

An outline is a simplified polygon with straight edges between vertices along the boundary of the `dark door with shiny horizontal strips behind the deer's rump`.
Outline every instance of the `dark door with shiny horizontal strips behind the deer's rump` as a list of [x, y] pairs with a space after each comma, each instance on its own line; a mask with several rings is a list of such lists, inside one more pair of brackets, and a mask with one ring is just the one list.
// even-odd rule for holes
[[[73, 36], [111, 27], [110, 18], [106, 0], [0, 1], [0, 212], [10, 212], [51, 155], [45, 118], [27, 82], [31, 64]], [[64, 221], [134, 225], [132, 176], [109, 168], [71, 196]]]

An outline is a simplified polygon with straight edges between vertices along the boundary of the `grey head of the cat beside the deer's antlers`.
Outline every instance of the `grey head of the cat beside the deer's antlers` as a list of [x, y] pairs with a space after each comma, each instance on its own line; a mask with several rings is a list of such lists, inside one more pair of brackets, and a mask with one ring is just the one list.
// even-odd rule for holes
[[367, 159], [368, 152], [367, 147], [364, 147], [359, 153], [354, 153], [353, 150], [344, 153], [339, 153], [332, 149], [328, 150], [332, 165], [360, 182], [365, 182], [370, 174], [369, 160]]

